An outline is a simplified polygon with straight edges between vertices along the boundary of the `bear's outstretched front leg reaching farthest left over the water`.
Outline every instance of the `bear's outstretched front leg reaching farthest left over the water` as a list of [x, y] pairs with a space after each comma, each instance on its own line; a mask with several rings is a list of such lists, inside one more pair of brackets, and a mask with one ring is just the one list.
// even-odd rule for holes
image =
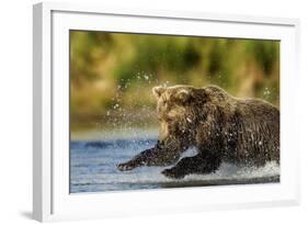
[[132, 160], [119, 164], [117, 168], [121, 171], [126, 171], [140, 166], [168, 166], [179, 160], [180, 154], [184, 150], [180, 145], [176, 146], [170, 142], [158, 142], [153, 148], [141, 151]]

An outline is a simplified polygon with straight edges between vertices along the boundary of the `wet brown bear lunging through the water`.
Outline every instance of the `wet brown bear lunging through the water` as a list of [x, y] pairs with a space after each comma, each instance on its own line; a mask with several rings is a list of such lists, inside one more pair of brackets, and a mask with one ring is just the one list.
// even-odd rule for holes
[[219, 87], [155, 87], [160, 136], [157, 145], [119, 164], [118, 169], [169, 166], [195, 146], [198, 154], [182, 158], [162, 173], [183, 178], [209, 173], [221, 161], [246, 166], [280, 162], [280, 110], [260, 99], [240, 99]]

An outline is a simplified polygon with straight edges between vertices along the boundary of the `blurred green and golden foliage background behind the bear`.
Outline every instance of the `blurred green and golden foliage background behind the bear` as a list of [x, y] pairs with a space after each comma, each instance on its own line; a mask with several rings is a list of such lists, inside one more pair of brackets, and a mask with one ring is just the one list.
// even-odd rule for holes
[[157, 85], [218, 85], [278, 105], [280, 42], [70, 32], [73, 124], [114, 112], [115, 105], [155, 111], [150, 90]]

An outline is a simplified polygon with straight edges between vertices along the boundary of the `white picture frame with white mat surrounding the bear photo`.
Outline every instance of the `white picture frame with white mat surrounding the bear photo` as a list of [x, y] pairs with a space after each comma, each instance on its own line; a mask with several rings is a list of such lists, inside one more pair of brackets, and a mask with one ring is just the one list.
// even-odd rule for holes
[[[106, 23], [104, 23], [106, 22]], [[281, 41], [281, 182], [69, 194], [69, 30]], [[33, 13], [33, 217], [100, 218], [299, 204], [296, 99], [299, 21], [233, 14], [38, 3]]]

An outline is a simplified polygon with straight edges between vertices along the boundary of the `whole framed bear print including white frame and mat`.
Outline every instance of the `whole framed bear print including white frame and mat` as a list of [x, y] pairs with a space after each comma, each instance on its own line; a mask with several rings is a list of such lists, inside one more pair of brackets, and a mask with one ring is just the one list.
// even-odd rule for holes
[[33, 216], [299, 201], [294, 19], [34, 5]]

